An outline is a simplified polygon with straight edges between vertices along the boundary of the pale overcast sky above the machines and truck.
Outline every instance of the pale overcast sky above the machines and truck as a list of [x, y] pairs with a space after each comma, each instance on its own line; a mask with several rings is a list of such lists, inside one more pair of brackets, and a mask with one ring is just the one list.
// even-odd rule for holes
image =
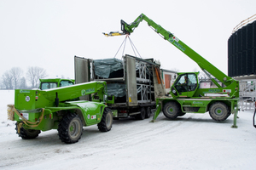
[[[255, 7], [255, 0], [0, 0], [0, 77], [12, 67], [25, 76], [29, 66], [39, 66], [51, 78], [74, 78], [74, 55], [113, 58], [125, 37], [102, 32], [119, 31], [120, 20], [131, 23], [142, 13], [227, 74], [228, 39]], [[200, 71], [145, 21], [130, 38], [143, 59], [158, 59], [166, 70]], [[125, 54], [134, 55], [128, 42]]]

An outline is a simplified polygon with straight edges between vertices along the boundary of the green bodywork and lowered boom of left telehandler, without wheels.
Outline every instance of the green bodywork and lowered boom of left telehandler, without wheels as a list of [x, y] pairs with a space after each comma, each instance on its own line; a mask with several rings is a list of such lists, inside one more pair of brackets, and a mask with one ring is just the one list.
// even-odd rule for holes
[[[77, 100], [80, 96], [95, 94], [99, 102]], [[106, 82], [85, 82], [63, 88], [47, 90], [15, 90], [15, 109], [29, 122], [39, 122], [37, 127], [23, 127], [42, 131], [56, 129], [65, 114], [76, 112], [82, 119], [84, 126], [101, 122], [105, 105], [104, 95], [107, 95]], [[39, 117], [43, 114], [43, 120]], [[21, 122], [15, 114], [15, 121]]]

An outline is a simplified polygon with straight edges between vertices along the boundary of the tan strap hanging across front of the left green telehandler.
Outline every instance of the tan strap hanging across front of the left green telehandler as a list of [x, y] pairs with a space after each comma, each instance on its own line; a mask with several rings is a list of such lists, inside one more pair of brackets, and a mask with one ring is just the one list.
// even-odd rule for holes
[[28, 127], [38, 127], [38, 125], [43, 121], [43, 117], [44, 117], [44, 108], [42, 108], [42, 114], [41, 116], [38, 118], [37, 122], [30, 122], [28, 120], [26, 120], [26, 118], [24, 116], [21, 116], [19, 111], [17, 111], [15, 109], [15, 105], [9, 105], [9, 107], [11, 107], [11, 111], [10, 113], [13, 113], [15, 111], [15, 113], [21, 118], [22, 122], [20, 122], [18, 124], [18, 133], [20, 133], [20, 128], [22, 127], [22, 124], [25, 123], [26, 126]]

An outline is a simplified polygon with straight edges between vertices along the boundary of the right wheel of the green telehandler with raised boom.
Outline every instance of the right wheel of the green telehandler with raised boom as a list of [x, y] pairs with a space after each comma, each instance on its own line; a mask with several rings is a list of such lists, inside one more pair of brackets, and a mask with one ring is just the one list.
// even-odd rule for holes
[[210, 106], [209, 114], [214, 121], [222, 122], [230, 116], [230, 111], [224, 103], [216, 102]]

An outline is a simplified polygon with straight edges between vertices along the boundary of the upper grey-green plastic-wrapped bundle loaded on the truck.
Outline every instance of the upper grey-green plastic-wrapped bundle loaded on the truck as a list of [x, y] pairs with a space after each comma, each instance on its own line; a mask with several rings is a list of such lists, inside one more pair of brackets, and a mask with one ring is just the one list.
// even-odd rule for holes
[[98, 77], [108, 78], [113, 71], [123, 69], [123, 61], [121, 59], [95, 59], [95, 74]]

